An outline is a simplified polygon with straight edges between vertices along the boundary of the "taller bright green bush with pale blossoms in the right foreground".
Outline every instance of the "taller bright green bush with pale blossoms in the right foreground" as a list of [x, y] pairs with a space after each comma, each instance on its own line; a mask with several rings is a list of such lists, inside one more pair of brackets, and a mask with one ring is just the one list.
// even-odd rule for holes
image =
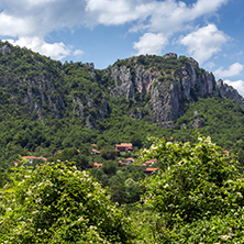
[[243, 243], [244, 178], [233, 156], [200, 135], [195, 144], [153, 140], [143, 155], [160, 165], [144, 185], [160, 243]]

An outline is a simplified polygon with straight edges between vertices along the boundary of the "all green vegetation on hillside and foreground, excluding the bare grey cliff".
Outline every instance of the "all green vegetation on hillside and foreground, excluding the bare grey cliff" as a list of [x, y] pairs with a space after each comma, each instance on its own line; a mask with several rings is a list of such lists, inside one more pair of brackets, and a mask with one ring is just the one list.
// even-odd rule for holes
[[[164, 84], [187, 62], [113, 66], [143, 65]], [[0, 42], [1, 243], [243, 243], [244, 108], [195, 93], [159, 126], [149, 93], [111, 96], [111, 68]]]

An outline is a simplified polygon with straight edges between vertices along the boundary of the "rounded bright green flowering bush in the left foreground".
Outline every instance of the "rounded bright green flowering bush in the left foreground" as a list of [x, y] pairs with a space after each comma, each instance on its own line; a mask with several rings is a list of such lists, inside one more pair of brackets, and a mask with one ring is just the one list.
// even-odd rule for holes
[[89, 173], [21, 163], [11, 179], [0, 191], [1, 243], [130, 243], [129, 221]]

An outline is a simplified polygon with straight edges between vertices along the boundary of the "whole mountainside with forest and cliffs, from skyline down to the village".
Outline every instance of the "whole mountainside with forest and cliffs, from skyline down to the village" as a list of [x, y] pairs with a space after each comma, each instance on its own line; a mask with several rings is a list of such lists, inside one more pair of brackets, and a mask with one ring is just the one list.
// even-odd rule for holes
[[187, 141], [196, 127], [243, 160], [243, 98], [235, 90], [234, 100], [224, 98], [213, 75], [185, 56], [138, 56], [98, 70], [1, 42], [0, 93], [4, 165], [18, 154], [69, 149], [85, 167], [93, 163], [91, 144], [130, 142], [136, 151], [147, 136]]

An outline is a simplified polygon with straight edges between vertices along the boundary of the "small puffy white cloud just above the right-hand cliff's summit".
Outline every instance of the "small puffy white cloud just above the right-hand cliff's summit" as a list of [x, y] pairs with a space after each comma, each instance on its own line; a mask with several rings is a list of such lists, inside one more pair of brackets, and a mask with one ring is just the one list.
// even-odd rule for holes
[[163, 34], [145, 33], [137, 43], [133, 44], [134, 49], [140, 54], [160, 54], [168, 40]]

